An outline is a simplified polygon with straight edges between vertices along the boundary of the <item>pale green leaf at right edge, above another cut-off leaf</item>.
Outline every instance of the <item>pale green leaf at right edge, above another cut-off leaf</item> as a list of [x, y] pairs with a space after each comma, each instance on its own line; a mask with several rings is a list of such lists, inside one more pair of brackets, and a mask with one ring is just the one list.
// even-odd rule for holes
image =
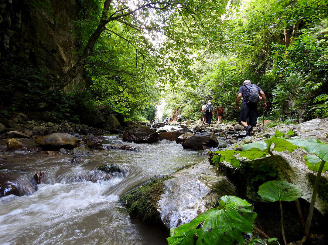
[[322, 143], [321, 141], [318, 141], [316, 139], [303, 140], [288, 138], [286, 138], [286, 141], [289, 141], [297, 145], [298, 147], [303, 148], [308, 153], [313, 153], [317, 155], [322, 160], [328, 161], [328, 145]]

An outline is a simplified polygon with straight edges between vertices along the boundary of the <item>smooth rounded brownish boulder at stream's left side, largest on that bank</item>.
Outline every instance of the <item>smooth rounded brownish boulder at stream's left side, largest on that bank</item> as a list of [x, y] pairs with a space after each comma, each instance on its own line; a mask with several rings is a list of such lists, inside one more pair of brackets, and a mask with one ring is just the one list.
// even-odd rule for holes
[[35, 143], [51, 148], [65, 148], [72, 149], [77, 146], [78, 139], [67, 133], [54, 133], [46, 136], [42, 136], [34, 141]]

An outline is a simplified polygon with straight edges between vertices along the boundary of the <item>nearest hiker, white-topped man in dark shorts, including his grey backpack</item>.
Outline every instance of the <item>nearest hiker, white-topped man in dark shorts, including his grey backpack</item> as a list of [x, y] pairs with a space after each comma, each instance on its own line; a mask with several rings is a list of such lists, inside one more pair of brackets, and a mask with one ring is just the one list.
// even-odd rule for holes
[[[262, 97], [263, 108], [266, 108], [267, 104], [264, 92], [258, 86], [251, 84], [250, 80], [245, 80], [238, 91], [235, 108], [238, 109], [238, 104], [242, 96], [243, 100], [241, 102], [238, 123], [246, 128], [246, 136], [252, 135], [253, 127], [257, 123], [258, 94]], [[247, 125], [247, 117], [249, 117], [249, 125]]]

